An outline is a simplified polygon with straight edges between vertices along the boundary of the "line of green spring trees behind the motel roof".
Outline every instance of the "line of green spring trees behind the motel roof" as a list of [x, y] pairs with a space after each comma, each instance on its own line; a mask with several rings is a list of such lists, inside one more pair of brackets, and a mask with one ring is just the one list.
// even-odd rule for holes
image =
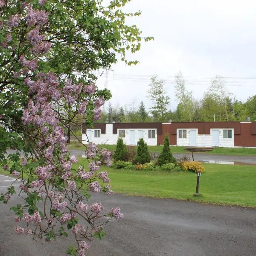
[[182, 73], [175, 76], [175, 100], [177, 108], [170, 110], [170, 96], [166, 92], [165, 81], [151, 77], [148, 85], [151, 107], [147, 111], [144, 102], [133, 100], [130, 105], [105, 105], [102, 118], [98, 122], [218, 122], [256, 120], [256, 95], [246, 102], [236, 100], [227, 90], [223, 77], [215, 76], [202, 99], [196, 99], [192, 91], [186, 89]]

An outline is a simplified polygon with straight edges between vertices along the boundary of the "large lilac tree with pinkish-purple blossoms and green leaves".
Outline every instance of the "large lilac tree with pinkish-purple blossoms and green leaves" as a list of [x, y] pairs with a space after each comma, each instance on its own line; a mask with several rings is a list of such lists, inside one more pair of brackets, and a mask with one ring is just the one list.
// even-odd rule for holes
[[[0, 165], [21, 180], [20, 204], [11, 207], [15, 231], [51, 240], [71, 230], [76, 247], [68, 254], [85, 255], [88, 241], [104, 236], [102, 217], [122, 218], [119, 207], [102, 213], [101, 203], [87, 204], [88, 191], [113, 193], [108, 173], [99, 171], [111, 164], [111, 152], [89, 143], [88, 166], [75, 168], [65, 135], [79, 115], [98, 120], [111, 96], [97, 90], [92, 71], [110, 67], [116, 52], [137, 63], [126, 60], [125, 49], [140, 49], [141, 32], [125, 17], [140, 13], [123, 13], [127, 2], [0, 0]], [[8, 148], [17, 153], [6, 157]], [[0, 201], [14, 193], [11, 186]]]

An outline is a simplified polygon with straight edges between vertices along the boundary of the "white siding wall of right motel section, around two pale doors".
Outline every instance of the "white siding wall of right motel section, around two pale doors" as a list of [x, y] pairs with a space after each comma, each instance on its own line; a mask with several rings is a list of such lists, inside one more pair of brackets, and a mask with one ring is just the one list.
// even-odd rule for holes
[[[179, 131], [178, 130], [186, 130], [186, 139], [179, 139]], [[211, 134], [198, 134], [198, 129], [191, 130], [197, 130], [197, 146], [198, 147], [212, 147], [212, 129], [210, 131]], [[223, 128], [214, 128], [213, 130], [219, 130], [219, 146], [225, 147], [225, 148], [232, 148], [234, 147], [234, 129], [223, 129]], [[224, 139], [223, 138], [223, 130], [232, 130], [232, 139]], [[189, 147], [190, 146], [190, 129], [177, 129], [177, 146], [184, 146]]]

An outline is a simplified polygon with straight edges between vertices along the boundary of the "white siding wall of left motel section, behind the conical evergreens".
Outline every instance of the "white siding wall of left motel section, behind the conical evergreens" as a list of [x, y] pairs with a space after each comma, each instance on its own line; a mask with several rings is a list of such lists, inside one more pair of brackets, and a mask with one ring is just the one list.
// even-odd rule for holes
[[[109, 144], [114, 145], [117, 142], [118, 139], [118, 130], [117, 134], [113, 134], [113, 124], [106, 124], [106, 134], [100, 134], [100, 137], [94, 137], [94, 130], [99, 129], [87, 129], [92, 131], [92, 142], [95, 144]], [[139, 129], [139, 128], [132, 128], [132, 129], [120, 129], [125, 130], [125, 137], [123, 138], [123, 141], [126, 145], [130, 144], [130, 130], [134, 130], [135, 133], [135, 140], [133, 145], [137, 145], [137, 142], [139, 140], [139, 132], [138, 130], [143, 130], [143, 139], [145, 143], [148, 145], [157, 145], [157, 129]], [[155, 130], [156, 131], [156, 137], [155, 138], [148, 138], [148, 130]], [[88, 144], [86, 134], [82, 134], [82, 140], [84, 144]]]

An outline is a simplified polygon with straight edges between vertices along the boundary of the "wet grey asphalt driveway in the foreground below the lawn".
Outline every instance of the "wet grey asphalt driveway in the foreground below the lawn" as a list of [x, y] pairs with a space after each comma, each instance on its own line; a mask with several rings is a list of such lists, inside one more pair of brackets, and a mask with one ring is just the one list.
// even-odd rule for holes
[[[0, 192], [12, 179], [0, 176]], [[253, 256], [256, 209], [203, 205], [173, 199], [93, 194], [92, 202], [119, 206], [124, 218], [106, 225], [107, 236], [94, 240], [88, 256]], [[0, 205], [0, 256], [63, 256], [70, 238], [34, 242], [14, 233], [14, 214]]]

